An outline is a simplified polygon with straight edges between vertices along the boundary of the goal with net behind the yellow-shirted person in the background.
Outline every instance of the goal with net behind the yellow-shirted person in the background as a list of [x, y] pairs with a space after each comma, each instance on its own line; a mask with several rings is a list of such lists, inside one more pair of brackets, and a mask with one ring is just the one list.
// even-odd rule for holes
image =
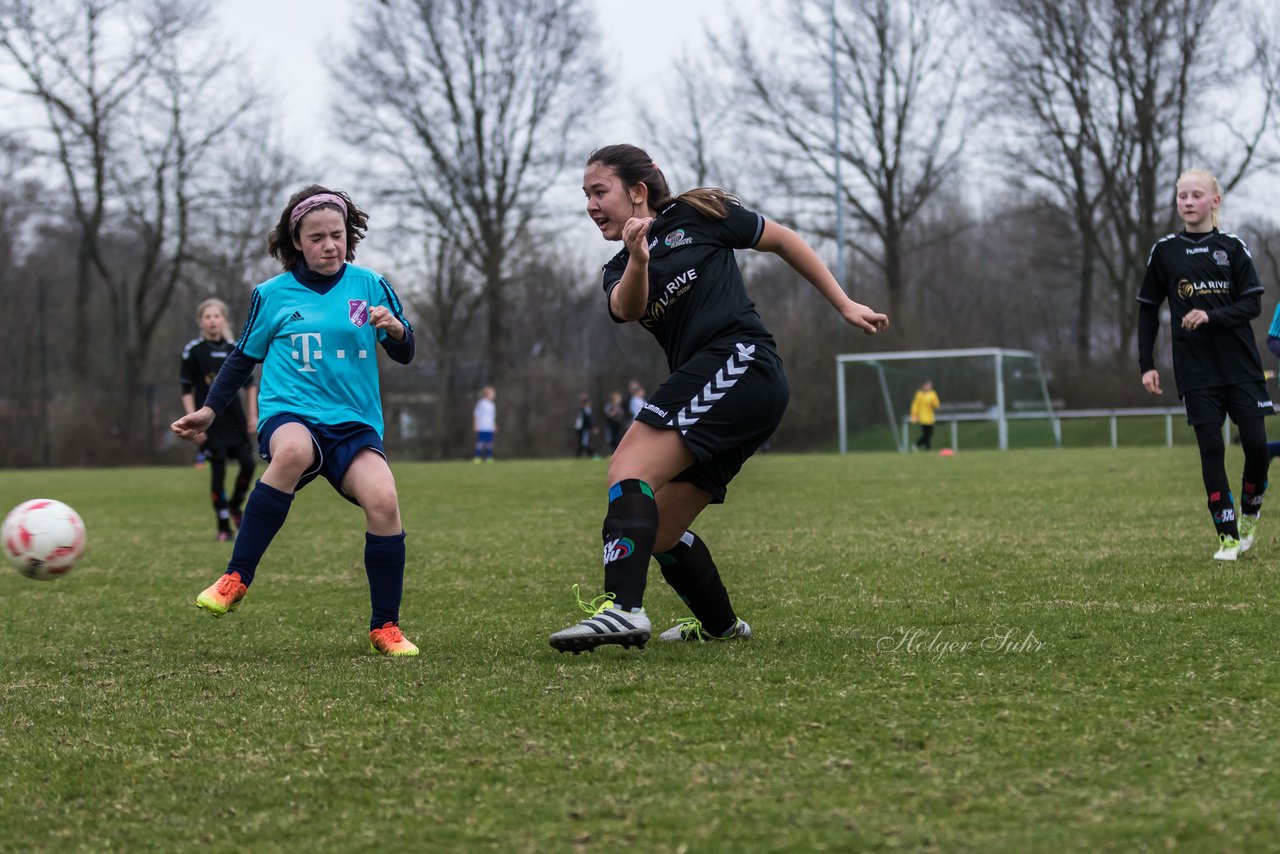
[[840, 452], [908, 451], [911, 398], [933, 382], [933, 447], [1057, 447], [1059, 420], [1039, 357], [1027, 350], [919, 350], [836, 356]]

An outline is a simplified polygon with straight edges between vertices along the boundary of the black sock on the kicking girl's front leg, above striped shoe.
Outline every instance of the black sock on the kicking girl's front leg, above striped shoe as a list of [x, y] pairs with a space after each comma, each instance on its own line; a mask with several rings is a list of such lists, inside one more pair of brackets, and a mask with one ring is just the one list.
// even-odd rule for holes
[[658, 502], [643, 480], [609, 487], [609, 511], [600, 529], [604, 539], [604, 590], [623, 611], [644, 606], [649, 557], [658, 538]]

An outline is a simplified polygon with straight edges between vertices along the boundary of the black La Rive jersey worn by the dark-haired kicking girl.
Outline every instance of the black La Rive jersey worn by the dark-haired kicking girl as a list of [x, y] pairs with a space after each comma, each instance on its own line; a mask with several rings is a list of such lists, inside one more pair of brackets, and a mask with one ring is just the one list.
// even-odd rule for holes
[[[649, 305], [640, 325], [662, 344], [671, 370], [723, 338], [773, 346], [733, 257], [733, 250], [751, 248], [763, 232], [764, 218], [736, 204], [728, 205], [724, 219], [709, 219], [680, 201], [654, 218], [649, 227]], [[605, 294], [622, 279], [630, 257], [623, 248], [604, 265]]]

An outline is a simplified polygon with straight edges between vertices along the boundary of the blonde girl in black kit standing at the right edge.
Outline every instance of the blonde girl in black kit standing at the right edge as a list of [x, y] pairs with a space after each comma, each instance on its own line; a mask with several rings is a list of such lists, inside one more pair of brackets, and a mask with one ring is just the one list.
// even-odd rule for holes
[[[1143, 388], [1161, 394], [1152, 347], [1160, 303], [1169, 300], [1174, 380], [1199, 444], [1208, 512], [1219, 539], [1213, 557], [1234, 561], [1257, 536], [1268, 463], [1262, 419], [1272, 408], [1249, 326], [1262, 312], [1262, 284], [1244, 242], [1219, 230], [1221, 204], [1217, 179], [1203, 169], [1188, 169], [1178, 179], [1178, 215], [1185, 228], [1157, 241], [1147, 260], [1138, 292], [1138, 366]], [[1244, 451], [1239, 519], [1224, 462], [1228, 415]]]

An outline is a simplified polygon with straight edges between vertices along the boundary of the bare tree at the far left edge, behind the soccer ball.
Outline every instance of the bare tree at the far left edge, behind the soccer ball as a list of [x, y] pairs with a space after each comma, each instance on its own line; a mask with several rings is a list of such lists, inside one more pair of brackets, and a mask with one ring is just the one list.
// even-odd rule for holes
[[[202, 38], [204, 23], [196, 0], [14, 0], [0, 9], [0, 55], [18, 69], [20, 95], [44, 110], [46, 154], [76, 223], [73, 376], [87, 385], [104, 361], [116, 370], [123, 394], [111, 399], [123, 421], [114, 431], [125, 439], [151, 438], [146, 366], [204, 213], [201, 166], [252, 102], [228, 95], [234, 58]], [[97, 344], [95, 289], [114, 335]], [[123, 357], [92, 365], [101, 344]]]

